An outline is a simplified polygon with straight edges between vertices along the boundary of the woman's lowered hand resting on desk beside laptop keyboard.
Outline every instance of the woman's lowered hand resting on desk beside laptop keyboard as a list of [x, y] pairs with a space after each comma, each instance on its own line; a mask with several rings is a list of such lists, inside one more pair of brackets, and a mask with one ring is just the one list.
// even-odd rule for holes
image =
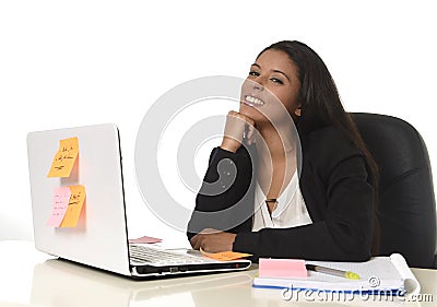
[[204, 228], [190, 239], [193, 249], [200, 249], [208, 252], [229, 251], [236, 234], [225, 233], [213, 228]]

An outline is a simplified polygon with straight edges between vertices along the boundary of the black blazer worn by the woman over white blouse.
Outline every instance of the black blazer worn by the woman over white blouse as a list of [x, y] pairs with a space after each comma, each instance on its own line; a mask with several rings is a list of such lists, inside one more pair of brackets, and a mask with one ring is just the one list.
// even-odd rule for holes
[[300, 190], [312, 224], [251, 232], [256, 150], [212, 151], [196, 210], [188, 224], [191, 238], [203, 228], [237, 234], [233, 250], [260, 257], [365, 261], [370, 257], [374, 189], [363, 154], [338, 129], [324, 127], [299, 134]]

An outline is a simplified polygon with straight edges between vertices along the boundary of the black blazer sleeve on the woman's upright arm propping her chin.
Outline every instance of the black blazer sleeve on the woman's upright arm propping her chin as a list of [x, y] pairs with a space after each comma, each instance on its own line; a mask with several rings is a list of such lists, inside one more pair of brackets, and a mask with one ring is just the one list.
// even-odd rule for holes
[[221, 147], [211, 152], [188, 223], [189, 239], [204, 228], [232, 233], [250, 231], [253, 215], [253, 203], [250, 204], [251, 158], [244, 146], [236, 153]]

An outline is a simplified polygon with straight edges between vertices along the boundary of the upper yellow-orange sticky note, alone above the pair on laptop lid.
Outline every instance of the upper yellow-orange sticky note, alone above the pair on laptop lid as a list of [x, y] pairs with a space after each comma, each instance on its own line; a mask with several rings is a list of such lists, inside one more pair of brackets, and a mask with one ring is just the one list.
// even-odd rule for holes
[[47, 177], [70, 177], [78, 155], [78, 138], [60, 140], [59, 150], [55, 154], [54, 162], [51, 163], [51, 167]]

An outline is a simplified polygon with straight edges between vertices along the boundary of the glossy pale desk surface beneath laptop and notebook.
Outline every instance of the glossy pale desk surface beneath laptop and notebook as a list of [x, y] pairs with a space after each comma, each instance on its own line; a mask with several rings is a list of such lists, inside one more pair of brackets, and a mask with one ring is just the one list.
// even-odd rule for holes
[[[51, 259], [28, 241], [0, 241], [0, 306], [437, 306], [437, 270], [412, 269], [422, 285], [415, 302], [397, 298], [293, 297], [280, 290], [251, 287], [258, 270], [131, 281]], [[288, 297], [290, 298], [290, 297]], [[422, 300], [422, 303], [416, 302]], [[433, 300], [426, 302], [424, 300]]]

